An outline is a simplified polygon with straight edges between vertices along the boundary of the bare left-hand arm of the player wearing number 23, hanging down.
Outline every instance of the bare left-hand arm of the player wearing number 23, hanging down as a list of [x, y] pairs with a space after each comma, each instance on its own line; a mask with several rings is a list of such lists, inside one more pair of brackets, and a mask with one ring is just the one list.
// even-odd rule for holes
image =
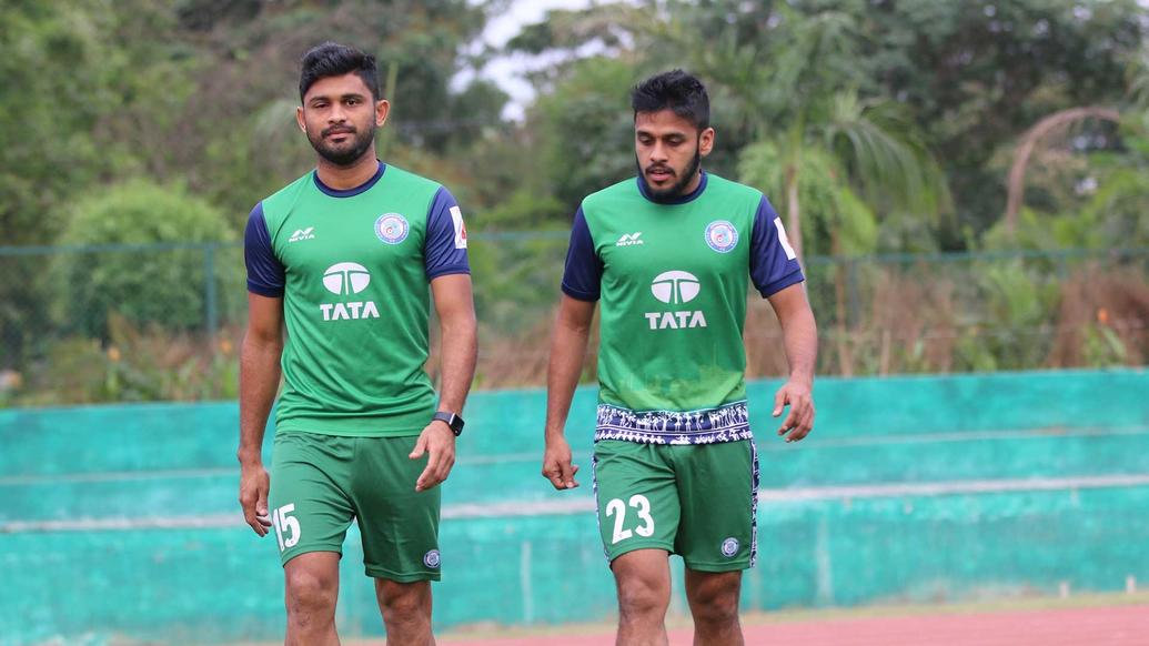
[[563, 294], [558, 303], [558, 318], [550, 338], [550, 362], [547, 366], [547, 423], [546, 449], [542, 455], [542, 477], [557, 490], [574, 489], [578, 466], [571, 464], [571, 448], [563, 436], [566, 415], [571, 409], [574, 389], [583, 374], [594, 301], [581, 301]]

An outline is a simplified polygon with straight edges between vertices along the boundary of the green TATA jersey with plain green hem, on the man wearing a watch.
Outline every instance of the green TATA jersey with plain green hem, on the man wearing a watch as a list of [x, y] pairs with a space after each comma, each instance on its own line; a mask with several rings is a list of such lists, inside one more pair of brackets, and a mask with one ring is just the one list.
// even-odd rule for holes
[[418, 434], [435, 409], [430, 280], [470, 272], [446, 189], [379, 163], [338, 191], [313, 171], [264, 199], [245, 234], [248, 290], [283, 298], [287, 343], [276, 428]]

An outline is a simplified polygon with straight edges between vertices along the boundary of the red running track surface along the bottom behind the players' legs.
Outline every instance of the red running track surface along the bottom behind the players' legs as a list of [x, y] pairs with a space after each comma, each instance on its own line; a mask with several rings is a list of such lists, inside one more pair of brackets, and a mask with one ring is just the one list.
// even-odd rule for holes
[[[1149, 646], [1149, 606], [758, 623], [748, 646]], [[688, 646], [689, 630], [670, 635]], [[440, 640], [444, 646], [612, 646], [612, 635]]]

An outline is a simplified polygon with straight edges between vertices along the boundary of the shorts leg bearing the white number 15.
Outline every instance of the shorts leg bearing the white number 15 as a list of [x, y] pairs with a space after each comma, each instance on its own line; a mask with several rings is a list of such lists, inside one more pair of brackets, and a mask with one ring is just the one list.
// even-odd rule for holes
[[276, 434], [268, 498], [283, 563], [309, 552], [342, 553], [354, 516], [346, 492], [350, 449], [349, 438]]

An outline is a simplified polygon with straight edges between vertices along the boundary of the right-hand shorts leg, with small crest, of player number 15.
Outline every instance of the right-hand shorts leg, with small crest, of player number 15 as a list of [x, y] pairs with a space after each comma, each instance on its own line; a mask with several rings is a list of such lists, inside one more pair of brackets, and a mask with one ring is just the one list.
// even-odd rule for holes
[[444, 485], [415, 491], [426, 467], [408, 457], [417, 437], [358, 438], [353, 499], [367, 575], [396, 583], [439, 580]]

